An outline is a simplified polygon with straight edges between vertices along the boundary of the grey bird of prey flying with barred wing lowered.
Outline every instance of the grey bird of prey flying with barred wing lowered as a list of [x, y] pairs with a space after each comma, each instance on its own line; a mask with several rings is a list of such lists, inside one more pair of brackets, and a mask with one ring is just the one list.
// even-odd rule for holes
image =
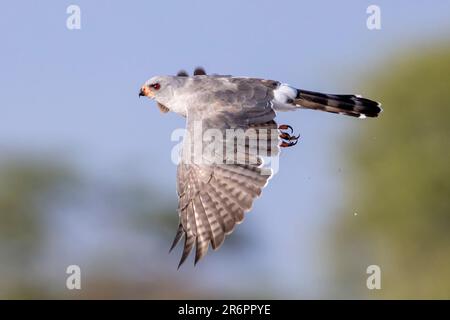
[[[209, 244], [214, 250], [220, 247], [270, 178], [263, 158], [297, 143], [299, 136], [292, 135], [291, 126], [275, 122], [276, 111], [314, 109], [357, 118], [377, 117], [382, 111], [380, 103], [359, 95], [324, 94], [267, 79], [207, 75], [202, 68], [193, 76], [185, 71], [155, 76], [144, 83], [139, 96], [156, 100], [163, 113], [173, 111], [186, 118], [190, 138], [184, 137], [177, 168], [179, 226], [170, 249], [184, 236], [178, 268], [194, 246], [194, 264], [205, 256]], [[201, 134], [196, 136], [198, 124]], [[238, 142], [225, 134], [230, 129], [251, 129], [253, 136]], [[223, 145], [232, 140], [231, 156], [229, 150], [217, 152], [220, 145], [213, 152], [201, 152], [200, 161], [191, 161], [197, 154], [192, 151], [195, 145], [207, 144], [199, 140], [208, 130], [223, 134]], [[256, 148], [250, 147], [250, 140], [257, 141]]]

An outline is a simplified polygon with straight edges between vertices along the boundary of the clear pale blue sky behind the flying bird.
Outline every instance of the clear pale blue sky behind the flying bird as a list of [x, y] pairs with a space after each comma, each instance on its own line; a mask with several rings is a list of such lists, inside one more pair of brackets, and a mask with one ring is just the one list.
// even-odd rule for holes
[[[81, 30], [66, 28], [70, 4], [81, 8]], [[381, 8], [379, 31], [366, 28], [370, 4]], [[146, 79], [201, 65], [364, 94], [358, 79], [384, 58], [450, 30], [448, 1], [13, 1], [1, 9], [0, 152], [56, 152], [100, 177], [145, 177], [173, 201], [170, 134], [184, 119], [138, 99]], [[351, 175], [341, 143], [364, 123], [309, 111], [278, 122], [302, 140], [283, 152], [238, 232], [261, 241], [245, 270], [270, 272], [280, 295], [310, 297], [326, 291], [322, 236]], [[234, 275], [225, 269], [224, 282]]]

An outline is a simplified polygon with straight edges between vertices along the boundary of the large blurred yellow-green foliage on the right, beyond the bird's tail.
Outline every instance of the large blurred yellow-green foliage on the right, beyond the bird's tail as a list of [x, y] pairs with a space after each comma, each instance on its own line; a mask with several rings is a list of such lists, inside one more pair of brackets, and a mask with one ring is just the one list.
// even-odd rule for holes
[[[345, 211], [358, 214], [335, 233], [338, 288], [352, 298], [448, 299], [450, 46], [405, 50], [368, 88], [384, 112], [349, 143]], [[381, 290], [366, 287], [371, 264]]]

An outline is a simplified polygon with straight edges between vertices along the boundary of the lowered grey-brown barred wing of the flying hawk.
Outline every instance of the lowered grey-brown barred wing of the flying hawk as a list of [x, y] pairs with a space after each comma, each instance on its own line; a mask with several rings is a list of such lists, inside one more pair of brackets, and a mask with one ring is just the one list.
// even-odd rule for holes
[[[262, 167], [261, 156], [279, 152], [271, 103], [277, 83], [239, 78], [210, 80], [202, 89], [205, 94], [198, 94], [195, 105], [187, 108], [189, 137], [185, 137], [177, 172], [180, 223], [171, 248], [184, 236], [178, 267], [194, 246], [195, 263], [205, 256], [210, 243], [213, 249], [219, 248], [225, 235], [243, 221], [270, 179], [271, 172]], [[195, 132], [199, 127], [200, 136]], [[202, 137], [210, 129], [220, 132], [222, 140], [219, 148], [207, 153], [204, 150], [208, 143]], [[239, 140], [230, 138], [227, 129], [232, 129], [228, 133], [251, 129], [251, 134]], [[200, 154], [195, 151], [199, 145]], [[222, 146], [227, 146], [226, 151], [217, 152]]]

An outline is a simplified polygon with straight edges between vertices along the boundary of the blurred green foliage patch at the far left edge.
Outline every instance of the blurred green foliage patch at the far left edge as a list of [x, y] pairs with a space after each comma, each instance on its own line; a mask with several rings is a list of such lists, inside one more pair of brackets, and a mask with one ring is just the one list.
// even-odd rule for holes
[[46, 236], [50, 206], [75, 176], [60, 163], [9, 157], [0, 163], [0, 297], [27, 298], [42, 291], [33, 266]]

